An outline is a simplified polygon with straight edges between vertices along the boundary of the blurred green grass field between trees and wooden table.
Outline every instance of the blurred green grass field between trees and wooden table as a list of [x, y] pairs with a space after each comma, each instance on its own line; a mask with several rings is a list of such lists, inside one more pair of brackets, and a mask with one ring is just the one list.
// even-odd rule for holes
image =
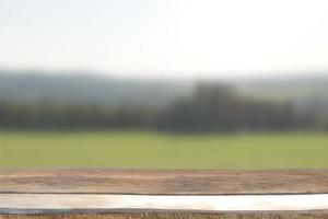
[[0, 132], [0, 168], [328, 168], [327, 134]]

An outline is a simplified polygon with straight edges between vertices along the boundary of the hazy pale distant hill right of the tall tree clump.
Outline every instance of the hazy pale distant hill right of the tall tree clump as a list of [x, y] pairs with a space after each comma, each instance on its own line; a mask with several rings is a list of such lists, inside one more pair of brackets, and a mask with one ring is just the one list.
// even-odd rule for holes
[[238, 81], [235, 87], [244, 95], [266, 100], [286, 100], [298, 111], [328, 115], [328, 73], [307, 73]]

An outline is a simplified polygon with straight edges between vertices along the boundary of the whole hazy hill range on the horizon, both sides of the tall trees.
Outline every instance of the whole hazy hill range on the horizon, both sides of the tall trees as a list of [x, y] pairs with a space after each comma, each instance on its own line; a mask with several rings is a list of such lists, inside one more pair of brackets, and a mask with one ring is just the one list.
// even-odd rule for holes
[[[328, 114], [328, 73], [230, 81], [243, 95], [288, 100], [300, 111]], [[0, 70], [0, 100], [165, 106], [192, 92], [191, 81], [117, 79], [79, 73]]]

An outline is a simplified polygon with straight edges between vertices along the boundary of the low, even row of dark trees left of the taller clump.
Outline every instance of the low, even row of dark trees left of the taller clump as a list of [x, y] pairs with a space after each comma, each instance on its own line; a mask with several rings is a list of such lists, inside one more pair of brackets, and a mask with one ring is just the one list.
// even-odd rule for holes
[[105, 108], [49, 102], [0, 103], [1, 128], [145, 128], [151, 115], [150, 110], [133, 106]]

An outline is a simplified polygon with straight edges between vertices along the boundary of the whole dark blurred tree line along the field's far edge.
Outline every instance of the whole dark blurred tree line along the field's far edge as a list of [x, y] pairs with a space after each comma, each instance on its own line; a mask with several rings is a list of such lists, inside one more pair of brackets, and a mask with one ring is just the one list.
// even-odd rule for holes
[[295, 111], [290, 102], [241, 96], [224, 84], [198, 84], [192, 95], [166, 107], [69, 104], [55, 101], [0, 101], [0, 128], [155, 129], [172, 132], [270, 131], [328, 129], [315, 115]]

